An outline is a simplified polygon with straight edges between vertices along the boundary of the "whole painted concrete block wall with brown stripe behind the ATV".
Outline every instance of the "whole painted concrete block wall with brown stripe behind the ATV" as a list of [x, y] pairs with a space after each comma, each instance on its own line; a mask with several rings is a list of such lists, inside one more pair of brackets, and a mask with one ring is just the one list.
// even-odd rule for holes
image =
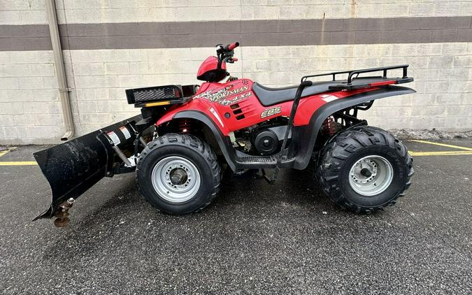
[[[231, 74], [268, 86], [410, 64], [417, 94], [364, 115], [385, 129], [472, 129], [472, 1], [60, 0], [76, 135], [138, 113], [124, 89], [199, 83], [213, 45], [241, 41]], [[0, 144], [64, 134], [44, 0], [0, 3]]]

